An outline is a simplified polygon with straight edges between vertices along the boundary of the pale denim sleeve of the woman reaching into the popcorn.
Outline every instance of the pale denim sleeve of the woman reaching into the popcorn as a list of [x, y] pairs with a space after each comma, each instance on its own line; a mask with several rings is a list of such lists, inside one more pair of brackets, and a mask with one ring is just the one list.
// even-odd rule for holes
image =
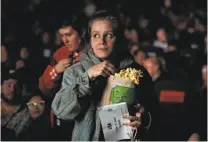
[[74, 120], [82, 110], [82, 103], [85, 102], [80, 99], [86, 96], [91, 96], [87, 72], [76, 77], [73, 68], [68, 68], [64, 72], [62, 88], [52, 102], [52, 109], [58, 118]]

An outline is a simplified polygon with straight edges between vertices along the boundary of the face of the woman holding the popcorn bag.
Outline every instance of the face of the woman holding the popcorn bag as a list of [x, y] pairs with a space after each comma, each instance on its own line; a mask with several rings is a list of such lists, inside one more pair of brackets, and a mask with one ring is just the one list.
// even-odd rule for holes
[[109, 20], [95, 20], [91, 27], [90, 44], [94, 54], [106, 60], [112, 53], [116, 36], [113, 24]]

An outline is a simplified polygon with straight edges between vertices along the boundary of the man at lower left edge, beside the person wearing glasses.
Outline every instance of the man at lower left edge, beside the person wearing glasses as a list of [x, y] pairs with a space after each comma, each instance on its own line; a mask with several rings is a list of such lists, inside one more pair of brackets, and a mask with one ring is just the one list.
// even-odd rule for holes
[[16, 140], [30, 125], [30, 115], [22, 101], [22, 83], [18, 70], [10, 70], [1, 82], [2, 140]]

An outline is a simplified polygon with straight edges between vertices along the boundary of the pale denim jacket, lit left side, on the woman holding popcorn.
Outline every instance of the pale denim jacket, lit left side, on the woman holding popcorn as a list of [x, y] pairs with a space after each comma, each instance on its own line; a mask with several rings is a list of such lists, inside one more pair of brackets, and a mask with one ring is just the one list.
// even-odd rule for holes
[[[96, 96], [102, 93], [99, 87], [92, 85], [96, 81], [89, 80], [87, 70], [100, 62], [91, 50], [86, 51], [79, 63], [64, 72], [62, 88], [52, 102], [52, 109], [58, 118], [75, 121], [72, 141], [99, 140], [101, 123], [97, 111], [99, 98]], [[119, 63], [119, 68], [132, 63], [131, 59], [123, 60]], [[100, 88], [104, 87], [101, 85]]]

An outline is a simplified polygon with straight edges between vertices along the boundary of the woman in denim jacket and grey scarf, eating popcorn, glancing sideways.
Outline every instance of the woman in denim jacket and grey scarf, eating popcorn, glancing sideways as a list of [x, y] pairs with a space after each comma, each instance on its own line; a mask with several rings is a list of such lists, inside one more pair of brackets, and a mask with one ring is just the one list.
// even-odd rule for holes
[[[143, 78], [138, 87], [135, 102], [145, 110], [154, 107], [151, 77], [147, 71], [133, 60], [122, 59], [122, 51], [117, 45], [119, 40], [118, 22], [109, 12], [100, 11], [89, 21], [89, 47], [81, 55], [80, 62], [67, 68], [62, 80], [62, 88], [56, 94], [52, 108], [63, 120], [74, 120], [73, 141], [104, 140], [98, 108], [102, 92], [110, 75], [120, 69], [132, 67], [142, 70]], [[152, 112], [151, 112], [152, 113]], [[141, 124], [139, 112], [134, 112], [132, 122], [125, 125], [138, 128]], [[141, 137], [140, 137], [141, 139]]]

